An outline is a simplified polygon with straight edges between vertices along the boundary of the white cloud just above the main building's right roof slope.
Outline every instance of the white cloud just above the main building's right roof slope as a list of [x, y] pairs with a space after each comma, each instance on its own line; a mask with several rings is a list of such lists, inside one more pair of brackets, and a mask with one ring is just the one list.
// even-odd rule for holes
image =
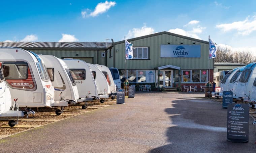
[[198, 36], [198, 34], [201, 34], [204, 29], [205, 29], [205, 27], [201, 27], [200, 25], [198, 25], [196, 28], [193, 28], [192, 31], [185, 31], [183, 29], [176, 28], [176, 29], [170, 29], [168, 32], [178, 34], [178, 35], [187, 36], [187, 37], [192, 37], [195, 39], [201, 39]]

